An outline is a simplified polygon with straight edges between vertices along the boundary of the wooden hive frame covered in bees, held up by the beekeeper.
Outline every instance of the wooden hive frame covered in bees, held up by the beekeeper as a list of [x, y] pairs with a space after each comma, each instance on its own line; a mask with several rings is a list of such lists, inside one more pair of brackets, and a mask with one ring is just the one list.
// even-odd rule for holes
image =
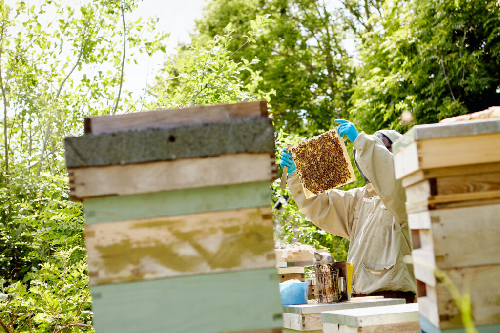
[[307, 199], [356, 180], [336, 127], [291, 147], [290, 152]]

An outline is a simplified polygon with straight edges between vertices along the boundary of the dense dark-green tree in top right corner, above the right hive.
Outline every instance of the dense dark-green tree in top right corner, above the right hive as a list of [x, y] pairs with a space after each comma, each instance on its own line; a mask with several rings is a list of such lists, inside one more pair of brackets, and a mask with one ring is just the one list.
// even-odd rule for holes
[[[385, 2], [379, 10], [362, 36], [351, 98], [350, 112], [362, 128], [404, 132], [498, 105], [497, 1]], [[402, 122], [403, 111], [414, 121]]]

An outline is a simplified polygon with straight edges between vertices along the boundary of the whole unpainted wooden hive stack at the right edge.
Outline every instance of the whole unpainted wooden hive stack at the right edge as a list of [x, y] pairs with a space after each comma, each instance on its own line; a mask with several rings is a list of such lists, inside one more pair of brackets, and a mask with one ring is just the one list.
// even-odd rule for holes
[[435, 330], [463, 326], [443, 275], [469, 291], [477, 328], [500, 330], [499, 145], [500, 120], [489, 119], [416, 125], [392, 146], [420, 315]]

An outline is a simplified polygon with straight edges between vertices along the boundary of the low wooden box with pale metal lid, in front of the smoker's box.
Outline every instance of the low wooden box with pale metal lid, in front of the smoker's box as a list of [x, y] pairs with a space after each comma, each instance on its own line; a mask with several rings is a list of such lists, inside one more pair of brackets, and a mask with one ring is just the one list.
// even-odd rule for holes
[[321, 313], [324, 333], [420, 333], [418, 304], [399, 304]]

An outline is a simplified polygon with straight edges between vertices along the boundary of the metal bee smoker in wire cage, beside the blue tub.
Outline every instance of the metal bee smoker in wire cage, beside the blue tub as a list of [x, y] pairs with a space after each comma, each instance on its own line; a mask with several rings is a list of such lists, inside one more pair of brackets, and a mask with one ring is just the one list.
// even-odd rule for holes
[[329, 253], [314, 252], [315, 296], [317, 303], [335, 303], [342, 298], [343, 280]]

